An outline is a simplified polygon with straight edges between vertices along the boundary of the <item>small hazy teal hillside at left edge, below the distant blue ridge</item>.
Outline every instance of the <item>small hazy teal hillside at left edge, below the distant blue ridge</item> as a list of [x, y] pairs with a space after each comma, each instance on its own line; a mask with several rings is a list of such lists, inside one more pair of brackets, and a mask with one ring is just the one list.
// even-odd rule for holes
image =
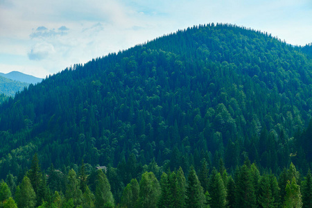
[[0, 75], [0, 94], [15, 96], [17, 92], [23, 91], [25, 87], [28, 87], [28, 85], [28, 83], [21, 83]]

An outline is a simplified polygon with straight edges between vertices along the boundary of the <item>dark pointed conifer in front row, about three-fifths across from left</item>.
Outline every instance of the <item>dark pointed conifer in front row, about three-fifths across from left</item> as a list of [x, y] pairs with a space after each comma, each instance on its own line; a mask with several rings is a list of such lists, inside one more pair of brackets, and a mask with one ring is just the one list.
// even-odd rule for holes
[[200, 181], [196, 175], [196, 171], [191, 166], [189, 176], [187, 177], [187, 207], [204, 207], [205, 206], [205, 195]]

